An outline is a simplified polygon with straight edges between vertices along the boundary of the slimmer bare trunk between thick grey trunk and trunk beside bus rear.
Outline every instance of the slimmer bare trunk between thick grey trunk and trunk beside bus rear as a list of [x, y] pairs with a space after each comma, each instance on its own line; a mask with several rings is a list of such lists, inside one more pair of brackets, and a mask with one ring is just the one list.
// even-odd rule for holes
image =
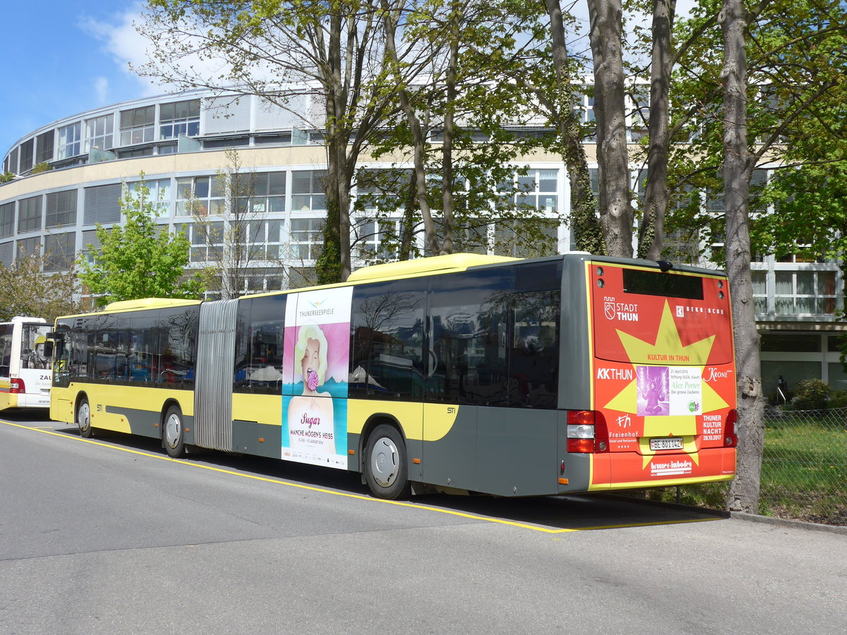
[[662, 257], [662, 232], [667, 211], [667, 152], [670, 144], [668, 102], [673, 55], [671, 36], [676, 0], [653, 0], [653, 58], [650, 65], [650, 141], [644, 218], [639, 229], [639, 257]]

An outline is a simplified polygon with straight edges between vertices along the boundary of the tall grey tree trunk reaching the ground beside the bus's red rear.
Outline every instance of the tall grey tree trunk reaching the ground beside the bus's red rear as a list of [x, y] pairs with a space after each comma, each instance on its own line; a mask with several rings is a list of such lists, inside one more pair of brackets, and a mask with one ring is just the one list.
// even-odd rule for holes
[[718, 16], [723, 32], [723, 188], [727, 235], [724, 242], [732, 292], [738, 388], [738, 466], [729, 487], [730, 511], [757, 513], [765, 436], [764, 396], [750, 278], [750, 175], [747, 146], [747, 58], [744, 0], [724, 0]]

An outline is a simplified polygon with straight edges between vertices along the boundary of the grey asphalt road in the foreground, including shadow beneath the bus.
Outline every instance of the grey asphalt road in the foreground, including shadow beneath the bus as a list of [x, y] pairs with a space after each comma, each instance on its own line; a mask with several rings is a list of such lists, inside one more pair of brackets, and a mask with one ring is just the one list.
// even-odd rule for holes
[[0, 633], [847, 632], [847, 535], [0, 419]]

